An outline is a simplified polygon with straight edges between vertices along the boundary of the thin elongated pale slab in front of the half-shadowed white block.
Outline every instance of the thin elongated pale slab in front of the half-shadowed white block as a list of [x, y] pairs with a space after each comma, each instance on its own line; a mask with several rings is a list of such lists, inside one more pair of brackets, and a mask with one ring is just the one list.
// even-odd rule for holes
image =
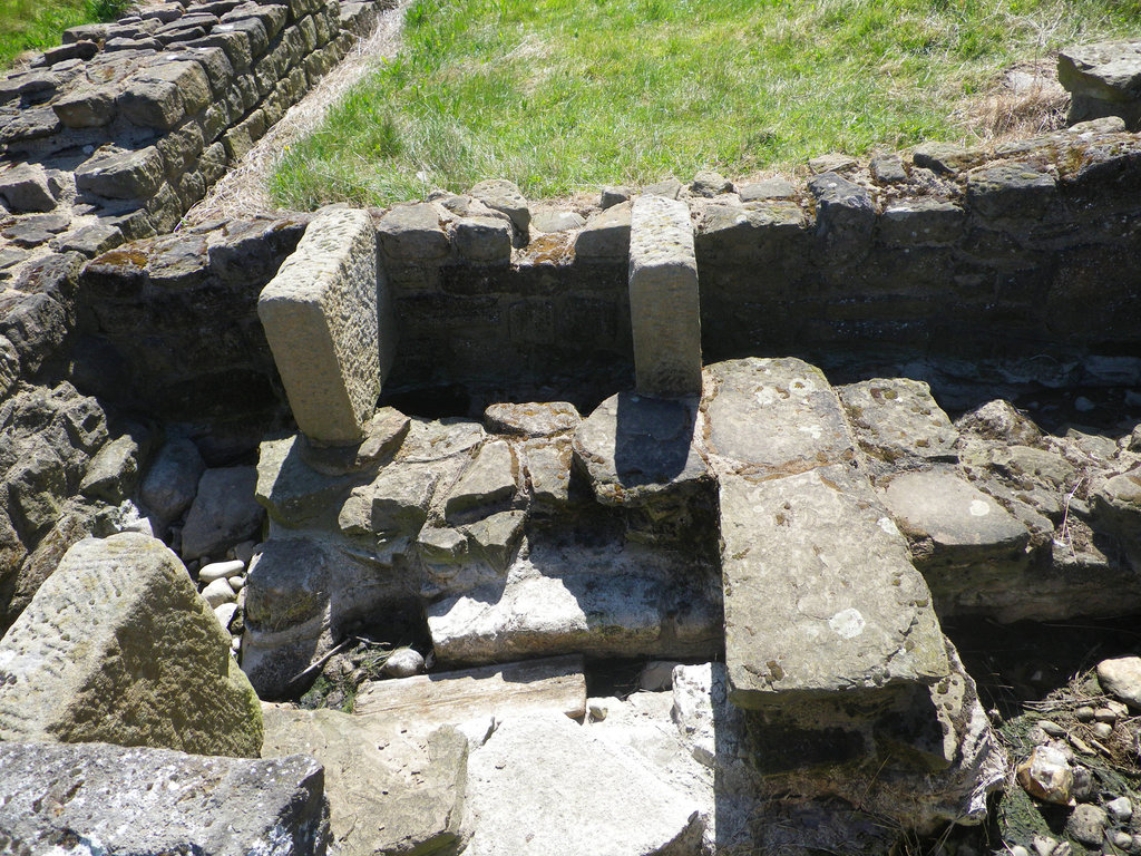
[[370, 681], [358, 691], [354, 711], [418, 728], [540, 710], [578, 719], [586, 712], [582, 670], [582, 655], [570, 654]]

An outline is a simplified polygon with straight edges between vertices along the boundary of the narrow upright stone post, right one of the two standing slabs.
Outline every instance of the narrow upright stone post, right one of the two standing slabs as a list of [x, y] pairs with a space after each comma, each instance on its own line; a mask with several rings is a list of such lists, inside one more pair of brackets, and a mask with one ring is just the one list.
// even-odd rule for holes
[[638, 391], [702, 394], [694, 227], [685, 202], [639, 196], [630, 215], [630, 320]]

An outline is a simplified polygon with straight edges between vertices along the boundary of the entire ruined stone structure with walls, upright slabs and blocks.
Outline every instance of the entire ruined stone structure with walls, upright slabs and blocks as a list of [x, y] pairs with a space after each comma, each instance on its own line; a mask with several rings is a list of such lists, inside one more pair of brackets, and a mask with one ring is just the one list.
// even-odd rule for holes
[[995, 152], [164, 234], [377, 14], [165, 3], [0, 84], [0, 849], [1141, 851], [1141, 660], [1013, 743], [944, 632], [1141, 611], [1109, 48]]

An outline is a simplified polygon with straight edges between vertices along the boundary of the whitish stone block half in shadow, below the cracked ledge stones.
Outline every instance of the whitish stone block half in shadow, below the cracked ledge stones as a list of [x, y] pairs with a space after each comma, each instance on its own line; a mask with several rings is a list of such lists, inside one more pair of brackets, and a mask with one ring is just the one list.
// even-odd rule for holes
[[621, 540], [532, 541], [507, 581], [428, 607], [442, 663], [556, 654], [712, 656], [721, 609], [703, 568]]

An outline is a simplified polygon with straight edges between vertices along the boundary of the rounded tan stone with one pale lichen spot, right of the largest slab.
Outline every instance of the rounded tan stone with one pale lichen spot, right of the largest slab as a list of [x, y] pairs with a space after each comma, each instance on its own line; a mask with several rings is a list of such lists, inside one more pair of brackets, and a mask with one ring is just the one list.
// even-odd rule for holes
[[923, 565], [1013, 570], [1029, 560], [1026, 526], [953, 473], [904, 473], [881, 495]]

